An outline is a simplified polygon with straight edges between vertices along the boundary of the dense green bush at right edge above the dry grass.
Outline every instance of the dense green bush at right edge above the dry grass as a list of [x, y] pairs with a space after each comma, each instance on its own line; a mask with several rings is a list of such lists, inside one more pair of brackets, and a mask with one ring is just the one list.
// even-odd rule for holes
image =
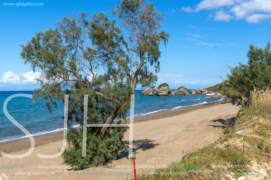
[[259, 90], [271, 85], [271, 50], [270, 42], [262, 48], [249, 46], [248, 64], [239, 63], [231, 68], [228, 80], [224, 80], [223, 93], [231, 97], [231, 102], [238, 103], [243, 108], [249, 103], [249, 96], [254, 87]]

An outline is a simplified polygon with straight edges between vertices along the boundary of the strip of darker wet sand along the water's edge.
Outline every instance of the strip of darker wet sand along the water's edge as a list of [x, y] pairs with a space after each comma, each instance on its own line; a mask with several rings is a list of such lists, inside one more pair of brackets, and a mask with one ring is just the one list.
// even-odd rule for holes
[[[212, 103], [212, 104], [200, 104], [200, 105], [194, 105], [194, 106], [188, 106], [184, 108], [179, 108], [179, 109], [174, 109], [174, 110], [168, 110], [168, 111], [163, 111], [163, 112], [158, 112], [158, 113], [153, 113], [153, 114], [148, 114], [148, 115], [143, 115], [139, 117], [134, 118], [134, 123], [139, 123], [139, 122], [145, 122], [149, 120], [157, 120], [160, 118], [170, 118], [173, 116], [178, 116], [184, 113], [188, 113], [194, 110], [222, 104], [223, 101], [217, 102], [217, 103]], [[127, 119], [126, 123], [129, 124], [130, 120]], [[57, 141], [63, 141], [63, 131], [59, 133], [51, 133], [51, 134], [44, 134], [40, 136], [33, 136], [35, 140], [35, 147], [38, 146], [43, 146], [48, 143], [53, 143]], [[0, 151], [3, 151], [5, 153], [14, 153], [17, 151], [22, 151], [22, 150], [27, 150], [31, 147], [31, 142], [29, 138], [23, 138], [23, 139], [16, 139], [12, 141], [6, 141], [0, 143]], [[1, 157], [1, 154], [0, 154]]]

